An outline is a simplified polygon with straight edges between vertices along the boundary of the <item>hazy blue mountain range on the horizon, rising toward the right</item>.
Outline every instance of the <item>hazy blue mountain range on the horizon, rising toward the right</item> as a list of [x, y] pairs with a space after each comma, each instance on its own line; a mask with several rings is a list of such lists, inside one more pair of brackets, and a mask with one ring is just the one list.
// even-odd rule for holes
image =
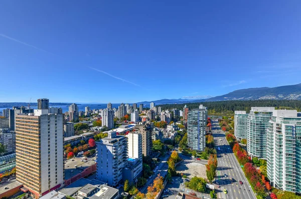
[[182, 104], [188, 102], [212, 102], [212, 101], [228, 101], [228, 100], [260, 100], [260, 99], [276, 99], [276, 100], [301, 100], [301, 84], [278, 86], [278, 87], [260, 87], [235, 90], [225, 95], [211, 97], [208, 99], [162, 99], [156, 101], [137, 102], [137, 104]]

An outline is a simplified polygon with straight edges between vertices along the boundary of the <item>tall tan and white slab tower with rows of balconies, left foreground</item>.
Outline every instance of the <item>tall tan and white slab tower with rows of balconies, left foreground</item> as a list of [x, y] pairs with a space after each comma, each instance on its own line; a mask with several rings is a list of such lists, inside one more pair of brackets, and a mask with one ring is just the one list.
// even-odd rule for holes
[[48, 114], [47, 104], [38, 100], [43, 109], [16, 115], [17, 181], [36, 198], [64, 184], [63, 115]]

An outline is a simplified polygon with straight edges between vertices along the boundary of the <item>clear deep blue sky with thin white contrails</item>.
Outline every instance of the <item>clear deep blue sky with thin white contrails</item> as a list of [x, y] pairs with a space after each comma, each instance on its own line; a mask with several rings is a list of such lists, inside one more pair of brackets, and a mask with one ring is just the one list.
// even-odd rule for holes
[[300, 83], [299, 1], [3, 1], [0, 102], [203, 98]]

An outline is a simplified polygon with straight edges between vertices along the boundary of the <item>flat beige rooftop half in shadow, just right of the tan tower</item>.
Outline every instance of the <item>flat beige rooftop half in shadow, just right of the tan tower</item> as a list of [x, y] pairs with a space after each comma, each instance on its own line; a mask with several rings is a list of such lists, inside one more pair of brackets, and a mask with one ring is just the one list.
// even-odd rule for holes
[[[94, 160], [86, 161], [78, 157], [74, 157], [65, 161], [65, 179], [70, 179], [71, 177], [83, 172], [84, 169], [92, 166], [96, 162]], [[75, 167], [76, 166], [76, 167]]]

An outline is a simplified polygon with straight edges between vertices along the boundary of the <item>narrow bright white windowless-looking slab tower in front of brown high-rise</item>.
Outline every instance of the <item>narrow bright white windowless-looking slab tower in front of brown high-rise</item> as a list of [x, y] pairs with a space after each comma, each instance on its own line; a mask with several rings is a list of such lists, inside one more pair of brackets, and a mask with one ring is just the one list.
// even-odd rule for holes
[[138, 132], [128, 133], [128, 157], [142, 161], [142, 134]]

